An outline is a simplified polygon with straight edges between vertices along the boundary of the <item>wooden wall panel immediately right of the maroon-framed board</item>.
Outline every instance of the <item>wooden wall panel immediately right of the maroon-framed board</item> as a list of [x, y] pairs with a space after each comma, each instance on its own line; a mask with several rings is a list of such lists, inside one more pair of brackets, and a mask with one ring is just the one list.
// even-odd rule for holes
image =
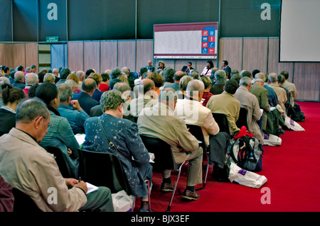
[[[242, 38], [220, 39], [219, 42], [219, 64], [228, 60], [231, 69], [242, 70]], [[217, 67], [215, 63], [215, 67]]]

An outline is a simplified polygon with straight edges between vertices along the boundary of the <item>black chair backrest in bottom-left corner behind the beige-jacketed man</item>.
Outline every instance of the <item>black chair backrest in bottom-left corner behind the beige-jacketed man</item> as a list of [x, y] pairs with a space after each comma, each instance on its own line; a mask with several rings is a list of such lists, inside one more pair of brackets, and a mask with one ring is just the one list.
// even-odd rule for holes
[[32, 198], [17, 188], [12, 188], [14, 194], [14, 212], [16, 213], [34, 213], [42, 212]]

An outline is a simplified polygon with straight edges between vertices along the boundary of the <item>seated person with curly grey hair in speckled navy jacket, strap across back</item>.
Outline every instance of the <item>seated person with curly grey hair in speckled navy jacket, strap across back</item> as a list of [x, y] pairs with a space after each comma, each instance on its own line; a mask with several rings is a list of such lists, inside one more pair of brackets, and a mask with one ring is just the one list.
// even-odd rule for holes
[[[90, 152], [106, 152], [117, 155], [124, 166], [133, 196], [142, 197], [140, 211], [146, 212], [149, 210], [149, 192], [144, 180], [148, 179], [151, 184], [152, 166], [149, 164], [148, 150], [138, 135], [137, 124], [122, 118], [123, 104], [124, 99], [120, 91], [112, 90], [102, 94], [101, 106], [104, 114], [100, 117], [90, 118], [85, 122], [83, 149]], [[129, 159], [133, 157], [138, 167], [132, 166], [129, 159], [114, 151], [110, 145], [106, 145], [109, 142], [101, 132], [101, 126], [109, 140], [113, 142], [114, 147], [127, 155]]]

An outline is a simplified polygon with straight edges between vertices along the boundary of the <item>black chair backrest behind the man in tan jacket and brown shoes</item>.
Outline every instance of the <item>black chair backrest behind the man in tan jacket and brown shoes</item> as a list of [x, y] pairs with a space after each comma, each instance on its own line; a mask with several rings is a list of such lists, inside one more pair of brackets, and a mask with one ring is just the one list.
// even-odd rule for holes
[[144, 146], [148, 152], [154, 153], [153, 170], [161, 172], [163, 169], [178, 169], [180, 164], [174, 161], [174, 154], [172, 154], [171, 147], [168, 143], [159, 138], [146, 137], [140, 135]]

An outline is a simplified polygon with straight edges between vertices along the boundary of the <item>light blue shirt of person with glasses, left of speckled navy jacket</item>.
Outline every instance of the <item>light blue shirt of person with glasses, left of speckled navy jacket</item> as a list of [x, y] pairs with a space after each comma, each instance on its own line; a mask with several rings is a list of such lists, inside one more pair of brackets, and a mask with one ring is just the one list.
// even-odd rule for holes
[[60, 104], [58, 112], [62, 117], [67, 118], [74, 134], [85, 133], [85, 120], [90, 116], [84, 110], [78, 111], [71, 106]]

